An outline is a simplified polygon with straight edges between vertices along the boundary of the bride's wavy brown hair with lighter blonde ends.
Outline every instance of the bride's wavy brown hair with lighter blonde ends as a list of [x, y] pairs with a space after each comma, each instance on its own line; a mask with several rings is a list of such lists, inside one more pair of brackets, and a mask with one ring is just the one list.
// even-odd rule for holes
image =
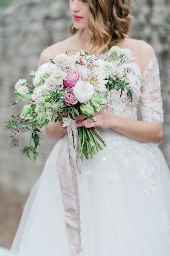
[[[85, 44], [85, 51], [99, 54], [127, 37], [131, 23], [130, 0], [88, 0], [88, 5], [90, 40]], [[74, 23], [70, 31], [72, 35], [78, 31]]]

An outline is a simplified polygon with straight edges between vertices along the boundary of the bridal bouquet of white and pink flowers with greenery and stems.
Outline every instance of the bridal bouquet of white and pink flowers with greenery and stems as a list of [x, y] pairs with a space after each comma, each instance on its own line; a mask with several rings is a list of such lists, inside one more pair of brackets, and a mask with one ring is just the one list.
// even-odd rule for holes
[[[62, 126], [71, 125], [74, 115], [84, 113], [93, 119], [94, 111], [100, 111], [107, 103], [111, 90], [120, 90], [120, 97], [126, 91], [126, 98], [132, 102], [132, 90], [126, 82], [130, 70], [118, 72], [118, 66], [127, 63], [131, 58], [129, 49], [113, 46], [107, 53], [108, 60], [101, 60], [94, 54], [80, 50], [76, 55], [56, 55], [48, 63], [42, 64], [36, 72], [31, 71], [32, 81], [20, 79], [15, 84], [14, 93], [18, 96], [10, 107], [19, 102], [28, 101], [22, 112], [13, 114], [6, 120], [6, 129], [11, 131], [11, 146], [17, 147], [19, 141], [12, 135], [19, 131], [31, 131], [30, 145], [23, 148], [23, 154], [33, 163], [37, 158], [37, 147], [40, 145], [41, 131], [49, 121], [63, 121]], [[81, 127], [78, 132], [78, 152], [92, 158], [97, 151], [106, 146], [96, 128]], [[33, 146], [31, 145], [33, 141]]]

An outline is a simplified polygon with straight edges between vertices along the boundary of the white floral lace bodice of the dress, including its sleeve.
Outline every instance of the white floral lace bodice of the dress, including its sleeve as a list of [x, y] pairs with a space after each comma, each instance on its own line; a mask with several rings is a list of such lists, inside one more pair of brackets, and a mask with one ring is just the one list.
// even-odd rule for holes
[[[107, 52], [97, 55], [98, 58], [107, 59]], [[125, 96], [123, 92], [119, 99], [120, 91], [111, 91], [111, 98], [108, 105], [103, 109], [106, 113], [112, 113], [124, 118], [138, 119], [137, 105], [139, 104], [142, 120], [163, 122], [163, 108], [161, 98], [161, 83], [159, 76], [159, 65], [156, 55], [150, 59], [144, 72], [141, 72], [139, 65], [135, 62], [136, 58], [127, 64], [119, 66], [121, 71], [130, 67], [130, 73], [127, 79], [133, 90], [133, 102], [122, 102], [121, 98]]]

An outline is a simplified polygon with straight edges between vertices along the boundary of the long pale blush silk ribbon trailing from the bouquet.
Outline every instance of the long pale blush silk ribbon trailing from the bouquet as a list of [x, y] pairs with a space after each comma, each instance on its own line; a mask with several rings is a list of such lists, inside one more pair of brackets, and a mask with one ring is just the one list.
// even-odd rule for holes
[[80, 205], [77, 184], [77, 170], [81, 174], [81, 160], [78, 153], [77, 126], [74, 120], [67, 126], [67, 134], [59, 148], [57, 172], [65, 210], [65, 228], [70, 256], [79, 256], [81, 247]]

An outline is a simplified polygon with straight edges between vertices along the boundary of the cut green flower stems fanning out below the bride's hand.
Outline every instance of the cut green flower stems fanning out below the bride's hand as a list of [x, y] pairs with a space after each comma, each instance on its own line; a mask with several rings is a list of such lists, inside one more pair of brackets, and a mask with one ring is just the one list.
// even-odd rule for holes
[[77, 129], [79, 135], [79, 154], [83, 160], [83, 154], [86, 159], [93, 158], [93, 155], [106, 147], [101, 134], [93, 128], [79, 127]]

